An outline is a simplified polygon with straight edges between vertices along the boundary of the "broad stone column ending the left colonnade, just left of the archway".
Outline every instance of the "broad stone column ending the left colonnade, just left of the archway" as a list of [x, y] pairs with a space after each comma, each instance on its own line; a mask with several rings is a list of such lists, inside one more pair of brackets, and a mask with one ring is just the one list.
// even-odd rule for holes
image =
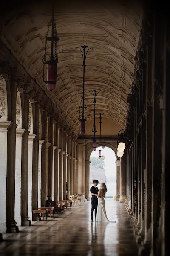
[[83, 185], [84, 185], [84, 169], [83, 169], [83, 142], [78, 142], [77, 150], [77, 164], [78, 164], [78, 194], [83, 194]]

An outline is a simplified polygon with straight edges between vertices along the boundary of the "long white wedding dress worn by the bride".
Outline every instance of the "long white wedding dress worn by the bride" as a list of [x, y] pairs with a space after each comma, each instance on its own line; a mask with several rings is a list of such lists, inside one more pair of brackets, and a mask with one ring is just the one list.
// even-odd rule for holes
[[111, 222], [108, 220], [105, 209], [105, 192], [101, 189], [100, 198], [98, 198], [96, 222]]

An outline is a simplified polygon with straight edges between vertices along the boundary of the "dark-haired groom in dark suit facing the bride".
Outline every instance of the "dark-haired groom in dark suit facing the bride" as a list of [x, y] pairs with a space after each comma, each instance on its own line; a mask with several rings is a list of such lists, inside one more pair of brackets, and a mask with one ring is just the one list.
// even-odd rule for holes
[[[91, 187], [90, 191], [91, 191], [91, 194], [94, 193], [94, 194], [98, 194], [98, 183], [99, 181], [98, 180], [94, 180], [93, 181], [94, 183], [94, 186]], [[93, 222], [93, 215], [95, 215], [95, 218], [96, 218], [96, 215], [97, 215], [97, 204], [98, 204], [98, 198], [96, 195], [92, 195], [91, 197], [91, 221]], [[95, 209], [95, 212], [94, 212], [94, 209]]]

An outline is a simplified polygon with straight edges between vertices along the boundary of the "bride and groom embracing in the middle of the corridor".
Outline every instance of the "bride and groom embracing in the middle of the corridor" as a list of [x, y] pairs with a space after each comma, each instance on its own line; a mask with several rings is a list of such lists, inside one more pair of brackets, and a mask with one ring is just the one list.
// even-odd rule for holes
[[[95, 215], [96, 222], [110, 222], [106, 215], [105, 209], [105, 194], [107, 192], [106, 184], [101, 183], [100, 189], [98, 189], [99, 181], [94, 180], [94, 186], [91, 187], [91, 221], [93, 222], [93, 215]], [[95, 212], [94, 212], [95, 211]]]

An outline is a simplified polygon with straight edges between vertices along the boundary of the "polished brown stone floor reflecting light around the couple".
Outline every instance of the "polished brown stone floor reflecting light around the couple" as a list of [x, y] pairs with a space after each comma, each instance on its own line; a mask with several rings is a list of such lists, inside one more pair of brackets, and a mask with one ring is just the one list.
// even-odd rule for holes
[[69, 207], [46, 221], [32, 221], [20, 232], [4, 234], [0, 255], [137, 256], [124, 204], [106, 199], [111, 223], [91, 222], [91, 203]]

